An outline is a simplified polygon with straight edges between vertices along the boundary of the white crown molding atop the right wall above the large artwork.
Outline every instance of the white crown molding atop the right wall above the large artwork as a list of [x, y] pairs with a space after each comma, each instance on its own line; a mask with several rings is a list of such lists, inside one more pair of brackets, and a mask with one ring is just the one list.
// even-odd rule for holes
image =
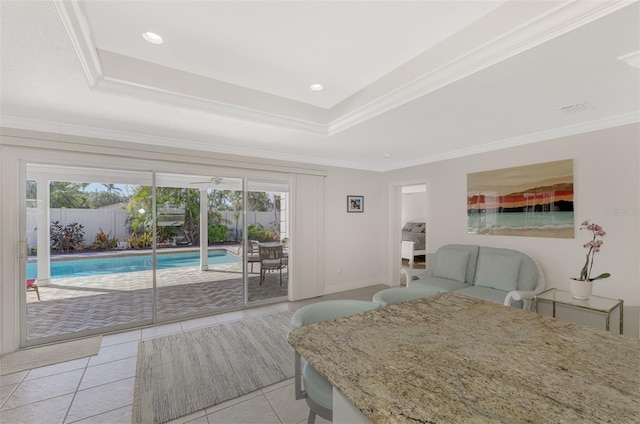
[[577, 134], [584, 134], [592, 131], [604, 130], [607, 128], [619, 127], [622, 125], [640, 123], [640, 111], [624, 113], [622, 115], [611, 116], [595, 121], [583, 122], [575, 125], [568, 125], [560, 128], [539, 131], [525, 134], [513, 138], [496, 140], [490, 143], [474, 146], [466, 149], [452, 150], [437, 155], [424, 156], [409, 161], [396, 162], [390, 166], [380, 168], [378, 171], [386, 172], [397, 169], [409, 168], [412, 166], [425, 165], [428, 163], [441, 162], [444, 160], [457, 159], [465, 156], [477, 155], [480, 153], [494, 152], [496, 150], [518, 147], [526, 144], [538, 143], [560, 137], [567, 137]]

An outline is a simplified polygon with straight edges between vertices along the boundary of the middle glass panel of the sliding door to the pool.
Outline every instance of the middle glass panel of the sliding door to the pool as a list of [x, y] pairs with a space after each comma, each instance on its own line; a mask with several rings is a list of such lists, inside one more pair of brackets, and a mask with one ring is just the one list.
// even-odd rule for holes
[[157, 173], [159, 321], [245, 305], [242, 193], [240, 178]]

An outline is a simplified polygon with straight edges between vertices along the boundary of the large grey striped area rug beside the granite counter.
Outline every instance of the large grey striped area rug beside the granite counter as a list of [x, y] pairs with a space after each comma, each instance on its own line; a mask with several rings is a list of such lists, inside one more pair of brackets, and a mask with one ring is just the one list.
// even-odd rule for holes
[[143, 340], [132, 422], [164, 423], [293, 377], [291, 313]]

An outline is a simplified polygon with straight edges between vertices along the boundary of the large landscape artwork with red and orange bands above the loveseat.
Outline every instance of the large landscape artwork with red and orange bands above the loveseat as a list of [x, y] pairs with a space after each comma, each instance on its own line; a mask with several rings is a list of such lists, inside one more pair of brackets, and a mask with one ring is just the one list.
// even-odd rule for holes
[[573, 159], [467, 174], [467, 229], [573, 238]]

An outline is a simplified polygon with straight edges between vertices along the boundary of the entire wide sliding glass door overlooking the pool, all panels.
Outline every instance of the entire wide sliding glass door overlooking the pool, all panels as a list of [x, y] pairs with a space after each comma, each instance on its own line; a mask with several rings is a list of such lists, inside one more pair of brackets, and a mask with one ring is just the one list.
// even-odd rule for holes
[[24, 189], [23, 345], [287, 296], [284, 183], [27, 164]]

